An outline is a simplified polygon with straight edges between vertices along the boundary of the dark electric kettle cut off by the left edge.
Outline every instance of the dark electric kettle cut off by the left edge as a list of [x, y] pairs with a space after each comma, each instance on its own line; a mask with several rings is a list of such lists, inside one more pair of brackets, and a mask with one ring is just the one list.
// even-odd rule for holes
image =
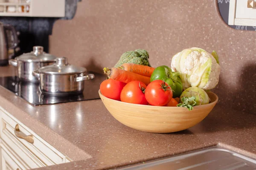
[[18, 38], [14, 26], [0, 22], [0, 66], [7, 65], [13, 57], [10, 51], [17, 51]]

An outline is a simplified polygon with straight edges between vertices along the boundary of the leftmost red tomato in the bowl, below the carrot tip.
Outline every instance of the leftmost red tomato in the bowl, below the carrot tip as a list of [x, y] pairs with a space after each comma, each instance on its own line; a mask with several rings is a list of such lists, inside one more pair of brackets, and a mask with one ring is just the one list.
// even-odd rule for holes
[[103, 96], [120, 101], [121, 91], [125, 85], [126, 83], [124, 82], [119, 82], [114, 79], [107, 79], [100, 84], [99, 89]]

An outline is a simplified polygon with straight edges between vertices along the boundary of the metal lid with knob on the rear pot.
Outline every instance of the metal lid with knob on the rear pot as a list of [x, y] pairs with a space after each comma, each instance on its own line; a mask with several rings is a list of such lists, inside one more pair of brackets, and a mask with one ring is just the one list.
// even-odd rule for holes
[[44, 47], [34, 46], [33, 51], [30, 53], [24, 53], [15, 59], [23, 62], [53, 62], [55, 61], [56, 57], [45, 53]]

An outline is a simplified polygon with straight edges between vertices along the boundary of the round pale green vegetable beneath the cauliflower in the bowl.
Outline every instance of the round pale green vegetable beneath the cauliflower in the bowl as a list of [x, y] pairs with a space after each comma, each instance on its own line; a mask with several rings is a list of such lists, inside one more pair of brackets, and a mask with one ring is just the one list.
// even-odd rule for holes
[[208, 94], [201, 88], [192, 87], [187, 88], [185, 91], [182, 92], [180, 95], [180, 101], [182, 101], [183, 97], [195, 97], [195, 105], [206, 105], [209, 103], [209, 96]]

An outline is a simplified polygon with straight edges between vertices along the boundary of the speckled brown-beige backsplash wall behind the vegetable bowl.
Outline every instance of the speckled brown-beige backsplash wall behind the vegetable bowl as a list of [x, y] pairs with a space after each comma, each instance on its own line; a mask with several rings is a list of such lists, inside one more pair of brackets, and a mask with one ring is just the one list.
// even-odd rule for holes
[[170, 66], [183, 48], [215, 50], [220, 103], [256, 113], [256, 32], [228, 27], [215, 0], [82, 0], [73, 20], [54, 24], [49, 44], [50, 53], [98, 72], [137, 48], [154, 67]]

